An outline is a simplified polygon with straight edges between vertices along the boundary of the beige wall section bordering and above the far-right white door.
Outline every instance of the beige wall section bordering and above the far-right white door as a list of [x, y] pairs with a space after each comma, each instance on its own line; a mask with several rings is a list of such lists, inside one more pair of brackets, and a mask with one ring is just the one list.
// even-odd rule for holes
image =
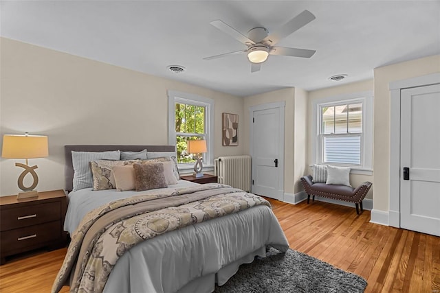
[[440, 72], [440, 55], [374, 69], [374, 201], [373, 209], [389, 209], [390, 185], [390, 91], [388, 84]]

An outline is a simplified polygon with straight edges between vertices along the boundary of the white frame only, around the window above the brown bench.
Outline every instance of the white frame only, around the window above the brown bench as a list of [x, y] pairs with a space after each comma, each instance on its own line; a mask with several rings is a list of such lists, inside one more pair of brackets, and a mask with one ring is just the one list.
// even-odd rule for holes
[[[323, 163], [323, 141], [326, 134], [320, 134], [321, 108], [324, 106], [338, 106], [344, 104], [362, 103], [362, 133], [360, 165], [342, 163]], [[313, 162], [325, 165], [349, 166], [351, 174], [373, 174], [373, 91], [349, 93], [333, 97], [315, 99], [312, 102], [312, 154]], [[348, 134], [350, 135], [350, 134]], [[358, 134], [356, 134], [358, 135]]]

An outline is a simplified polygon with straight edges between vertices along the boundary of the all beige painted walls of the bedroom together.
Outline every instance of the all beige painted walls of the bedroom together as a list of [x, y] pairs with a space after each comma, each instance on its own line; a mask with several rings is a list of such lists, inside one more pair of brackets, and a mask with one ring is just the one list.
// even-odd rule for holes
[[[321, 97], [374, 89], [373, 176], [351, 175], [351, 183], [373, 183], [373, 209], [388, 211], [389, 82], [440, 72], [440, 56], [374, 69], [373, 80], [310, 91], [288, 88], [251, 97], [234, 97], [102, 62], [0, 38], [0, 134], [49, 136], [50, 156], [39, 165], [39, 190], [63, 188], [66, 144], [166, 144], [167, 90], [215, 100], [214, 156], [249, 154], [249, 108], [285, 101], [285, 192], [301, 190], [298, 179], [311, 164], [311, 102]], [[306, 110], [307, 108], [307, 110]], [[221, 145], [221, 113], [239, 115], [240, 143]], [[16, 194], [22, 169], [17, 160], [0, 161], [0, 195]], [[370, 191], [367, 198], [372, 198]]]

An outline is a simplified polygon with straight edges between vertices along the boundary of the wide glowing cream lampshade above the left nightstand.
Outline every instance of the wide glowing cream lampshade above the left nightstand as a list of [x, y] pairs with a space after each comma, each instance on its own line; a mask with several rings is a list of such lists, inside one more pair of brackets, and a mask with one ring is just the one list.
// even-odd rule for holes
[[5, 134], [1, 156], [8, 159], [34, 159], [49, 156], [47, 137]]

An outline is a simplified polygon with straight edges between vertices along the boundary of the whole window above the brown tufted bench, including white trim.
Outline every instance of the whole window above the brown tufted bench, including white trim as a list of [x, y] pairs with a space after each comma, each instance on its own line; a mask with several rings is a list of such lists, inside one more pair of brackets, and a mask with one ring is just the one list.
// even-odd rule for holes
[[346, 165], [360, 170], [360, 174], [371, 174], [372, 93], [320, 99], [313, 107], [316, 163]]

